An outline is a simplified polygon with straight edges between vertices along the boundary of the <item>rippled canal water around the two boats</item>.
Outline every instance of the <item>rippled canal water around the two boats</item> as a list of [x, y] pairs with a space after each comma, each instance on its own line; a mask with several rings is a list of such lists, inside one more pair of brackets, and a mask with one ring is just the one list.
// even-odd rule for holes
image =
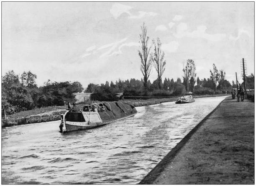
[[134, 117], [59, 133], [60, 121], [2, 129], [2, 184], [137, 184], [225, 97], [136, 107]]

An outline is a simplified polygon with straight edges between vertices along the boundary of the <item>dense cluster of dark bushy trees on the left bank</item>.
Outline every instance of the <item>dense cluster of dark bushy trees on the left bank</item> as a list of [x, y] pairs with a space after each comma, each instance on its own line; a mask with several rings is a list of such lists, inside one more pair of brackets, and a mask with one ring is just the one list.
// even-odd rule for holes
[[74, 102], [74, 92], [82, 92], [79, 82], [51, 82], [37, 87], [36, 74], [23, 72], [20, 77], [12, 71], [2, 76], [2, 111], [13, 114], [35, 107], [60, 106], [65, 101]]

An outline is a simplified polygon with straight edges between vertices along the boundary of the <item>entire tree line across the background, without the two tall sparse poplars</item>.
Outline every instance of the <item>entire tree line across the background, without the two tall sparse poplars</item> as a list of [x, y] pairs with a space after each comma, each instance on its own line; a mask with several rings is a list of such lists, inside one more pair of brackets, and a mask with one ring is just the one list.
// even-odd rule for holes
[[[231, 88], [236, 88], [225, 79], [225, 72], [218, 71], [215, 64], [210, 70], [210, 77], [200, 79], [197, 77], [195, 86], [195, 62], [187, 60], [187, 67], [184, 67], [183, 82], [180, 78], [161, 78], [152, 83], [147, 81], [148, 96], [175, 96], [188, 94], [192, 91], [194, 94], [214, 94], [229, 92]], [[192, 69], [192, 70], [191, 70]], [[193, 72], [191, 72], [193, 71]], [[185, 76], [187, 74], [187, 76]], [[254, 75], [247, 78], [247, 87], [254, 89]], [[243, 83], [241, 84], [243, 85]], [[125, 96], [144, 96], [144, 80], [119, 79], [115, 84], [107, 81], [105, 84], [92, 84], [87, 86], [84, 92], [92, 92], [92, 100], [114, 101], [117, 100], [117, 94], [123, 92]], [[79, 82], [51, 82], [48, 80], [44, 86], [37, 87], [36, 74], [32, 72], [23, 72], [20, 77], [13, 71], [7, 72], [2, 77], [2, 110], [7, 110], [7, 114], [33, 109], [35, 107], [46, 107], [52, 105], [64, 105], [64, 102], [74, 102], [73, 93], [82, 92], [83, 87]]]

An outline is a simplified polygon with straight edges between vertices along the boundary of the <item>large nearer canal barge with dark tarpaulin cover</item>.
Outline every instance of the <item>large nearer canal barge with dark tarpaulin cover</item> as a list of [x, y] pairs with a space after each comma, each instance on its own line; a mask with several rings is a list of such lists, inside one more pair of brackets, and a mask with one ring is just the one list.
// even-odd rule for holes
[[91, 129], [134, 116], [137, 110], [124, 102], [101, 102], [84, 105], [79, 111], [72, 108], [61, 114], [60, 132]]

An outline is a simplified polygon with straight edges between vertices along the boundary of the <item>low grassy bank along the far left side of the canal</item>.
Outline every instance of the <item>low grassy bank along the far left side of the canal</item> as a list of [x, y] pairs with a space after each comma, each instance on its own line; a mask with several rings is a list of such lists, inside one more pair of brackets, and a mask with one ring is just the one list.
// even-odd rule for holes
[[[201, 97], [217, 97], [225, 96], [227, 94], [217, 94], [217, 95], [198, 95], [195, 98]], [[153, 98], [153, 99], [125, 99], [125, 102], [133, 104], [135, 107], [148, 106], [153, 104], [159, 104], [164, 102], [174, 102], [177, 97], [170, 98]], [[78, 107], [83, 107], [83, 104], [78, 104]], [[18, 112], [12, 115], [8, 115], [6, 119], [2, 119], [2, 127], [31, 124], [31, 123], [41, 123], [41, 122], [51, 122], [60, 119], [60, 114], [64, 114], [67, 110], [67, 106], [59, 107], [43, 107], [33, 110]]]

